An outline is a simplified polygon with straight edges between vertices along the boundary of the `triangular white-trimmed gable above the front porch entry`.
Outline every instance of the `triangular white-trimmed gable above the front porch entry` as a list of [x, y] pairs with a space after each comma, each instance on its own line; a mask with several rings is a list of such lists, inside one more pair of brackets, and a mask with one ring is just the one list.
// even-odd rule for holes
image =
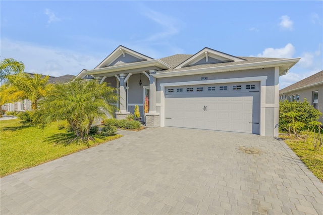
[[149, 60], [153, 59], [120, 45], [94, 69]]

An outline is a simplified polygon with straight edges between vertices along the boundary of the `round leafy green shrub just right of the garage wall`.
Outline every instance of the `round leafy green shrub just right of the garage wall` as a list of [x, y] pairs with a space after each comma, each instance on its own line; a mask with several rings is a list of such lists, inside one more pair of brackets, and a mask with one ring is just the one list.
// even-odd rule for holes
[[289, 131], [291, 128], [298, 137], [297, 134], [300, 131], [306, 130], [321, 115], [322, 113], [314, 109], [306, 99], [304, 99], [304, 102], [285, 100], [279, 104], [279, 130]]

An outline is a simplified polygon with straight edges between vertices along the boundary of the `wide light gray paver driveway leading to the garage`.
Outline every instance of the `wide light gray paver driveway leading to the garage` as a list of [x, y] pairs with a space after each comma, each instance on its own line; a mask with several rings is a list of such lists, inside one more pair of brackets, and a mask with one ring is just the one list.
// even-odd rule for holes
[[1, 179], [1, 214], [322, 214], [282, 141], [180, 128], [125, 136]]

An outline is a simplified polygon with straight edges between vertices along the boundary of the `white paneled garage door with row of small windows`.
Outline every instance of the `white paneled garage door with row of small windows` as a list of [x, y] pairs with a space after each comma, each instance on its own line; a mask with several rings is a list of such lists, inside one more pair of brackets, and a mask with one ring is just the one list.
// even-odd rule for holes
[[165, 89], [165, 125], [259, 134], [259, 82]]

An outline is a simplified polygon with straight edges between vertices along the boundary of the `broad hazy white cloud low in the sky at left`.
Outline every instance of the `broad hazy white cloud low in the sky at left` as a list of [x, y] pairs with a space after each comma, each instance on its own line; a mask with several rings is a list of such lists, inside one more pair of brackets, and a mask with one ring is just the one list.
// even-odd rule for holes
[[1, 40], [1, 57], [14, 58], [25, 64], [25, 72], [43, 75], [77, 75], [82, 69], [93, 69], [101, 58], [75, 51], [45, 47], [9, 39]]

